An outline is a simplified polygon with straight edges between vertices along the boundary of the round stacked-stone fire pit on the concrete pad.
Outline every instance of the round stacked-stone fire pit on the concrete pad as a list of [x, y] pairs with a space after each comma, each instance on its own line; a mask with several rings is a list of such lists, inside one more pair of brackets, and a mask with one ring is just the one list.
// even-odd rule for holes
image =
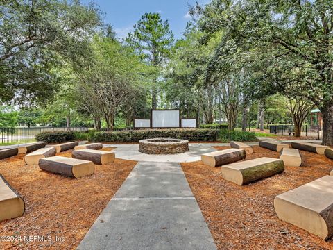
[[139, 152], [148, 154], [175, 154], [189, 151], [189, 141], [172, 138], [139, 140]]

